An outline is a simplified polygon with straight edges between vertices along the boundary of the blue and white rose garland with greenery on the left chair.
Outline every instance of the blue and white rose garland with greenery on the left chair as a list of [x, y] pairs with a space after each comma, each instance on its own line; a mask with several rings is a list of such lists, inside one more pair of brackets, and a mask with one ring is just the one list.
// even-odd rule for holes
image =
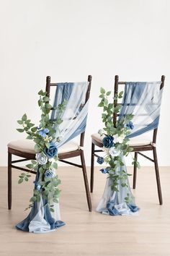
[[[30, 198], [30, 205], [26, 208], [32, 208], [34, 202], [40, 202], [40, 195], [46, 200], [49, 205], [50, 211], [54, 212], [53, 203], [58, 202], [58, 196], [60, 190], [58, 184], [61, 183], [58, 176], [55, 174], [55, 169], [58, 168], [58, 148], [55, 142], [63, 140], [61, 136], [55, 137], [56, 132], [60, 134], [58, 125], [63, 121], [61, 116], [64, 109], [66, 108], [66, 101], [63, 104], [59, 104], [53, 108], [50, 104], [50, 98], [47, 93], [40, 90], [38, 93], [40, 99], [38, 106], [41, 110], [41, 119], [39, 127], [32, 124], [30, 119], [27, 119], [27, 114], [22, 116], [21, 120], [17, 122], [22, 125], [22, 129], [17, 129], [18, 132], [26, 132], [27, 139], [35, 142], [35, 153], [36, 160], [32, 160], [31, 163], [27, 164], [27, 168], [30, 171], [39, 171], [39, 177], [35, 181], [34, 194]], [[50, 119], [50, 111], [55, 109], [57, 111], [58, 118], [56, 120]], [[20, 174], [18, 183], [27, 182], [30, 175], [28, 170], [27, 174]]]

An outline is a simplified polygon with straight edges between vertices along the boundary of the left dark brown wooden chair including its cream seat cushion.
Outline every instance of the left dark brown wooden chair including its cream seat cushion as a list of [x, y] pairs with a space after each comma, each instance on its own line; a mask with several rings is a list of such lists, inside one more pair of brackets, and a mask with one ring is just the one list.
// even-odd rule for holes
[[[90, 89], [91, 89], [91, 75], [88, 76], [89, 87], [86, 92], [86, 101], [89, 99]], [[50, 82], [50, 77], [46, 78], [46, 92], [50, 97], [50, 88], [53, 86], [57, 86], [57, 83]], [[63, 163], [71, 164], [72, 166], [76, 166], [82, 168], [83, 175], [84, 175], [84, 185], [86, 189], [86, 199], [89, 207], [89, 211], [92, 210], [91, 207], [91, 197], [89, 192], [89, 184], [86, 174], [86, 164], [84, 161], [84, 135], [85, 132], [82, 132], [80, 135], [80, 143], [76, 144], [75, 142], [67, 142], [65, 145], [58, 148], [58, 158], [59, 161]], [[22, 168], [20, 166], [15, 166], [14, 163], [19, 163], [22, 161], [28, 161], [35, 159], [35, 150], [34, 150], [34, 142], [32, 140], [17, 140], [13, 142], [9, 142], [8, 144], [8, 207], [9, 210], [12, 208], [12, 168], [19, 169], [21, 171], [28, 171], [26, 168]], [[17, 155], [22, 159], [17, 161], [12, 161], [12, 155]], [[70, 161], [66, 161], [67, 158], [74, 158], [76, 156], [80, 156], [81, 164], [72, 163]], [[35, 174], [35, 171], [30, 171], [32, 174]]]

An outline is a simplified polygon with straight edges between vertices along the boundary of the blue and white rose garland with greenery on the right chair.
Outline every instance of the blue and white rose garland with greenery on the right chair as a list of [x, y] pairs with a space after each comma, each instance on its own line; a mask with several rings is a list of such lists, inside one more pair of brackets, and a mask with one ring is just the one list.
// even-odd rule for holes
[[[101, 102], [99, 107], [103, 108], [102, 121], [104, 122], [104, 128], [99, 129], [99, 135], [103, 137], [103, 151], [105, 153], [104, 157], [98, 157], [97, 163], [102, 164], [106, 163], [107, 167], [102, 168], [103, 174], [108, 174], [108, 177], [112, 179], [112, 190], [119, 192], [117, 189], [118, 181], [121, 181], [122, 187], [128, 187], [128, 174], [126, 171], [117, 171], [118, 166], [124, 166], [125, 163], [122, 162], [122, 156], [127, 156], [128, 153], [133, 151], [128, 145], [129, 139], [126, 137], [130, 135], [130, 129], [133, 129], [133, 115], [127, 114], [122, 116], [116, 121], [116, 124], [113, 124], [114, 114], [120, 112], [121, 105], [114, 106], [114, 103], [109, 103], [108, 96], [111, 95], [111, 91], [106, 92], [104, 88], [100, 89], [99, 98]], [[120, 92], [118, 95], [115, 95], [113, 100], [122, 98], [123, 92]], [[140, 164], [133, 158], [133, 165], [136, 165], [140, 168]], [[127, 193], [125, 197], [125, 202], [130, 202], [130, 193]]]

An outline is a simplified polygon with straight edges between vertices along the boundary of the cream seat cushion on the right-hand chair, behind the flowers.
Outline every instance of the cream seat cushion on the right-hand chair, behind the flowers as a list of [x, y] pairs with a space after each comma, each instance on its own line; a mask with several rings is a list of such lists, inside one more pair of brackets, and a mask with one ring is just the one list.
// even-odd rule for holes
[[[97, 140], [97, 142], [102, 143], [102, 139], [104, 136], [100, 136], [98, 133], [94, 133], [93, 135], [91, 135], [91, 138], [94, 140]], [[146, 146], [146, 145], [151, 145], [151, 140], [148, 140], [146, 137], [144, 137], [143, 135], [140, 135], [138, 137], [133, 137], [130, 138], [130, 141], [128, 142], [128, 144], [130, 145], [130, 147], [137, 147], [137, 146]]]

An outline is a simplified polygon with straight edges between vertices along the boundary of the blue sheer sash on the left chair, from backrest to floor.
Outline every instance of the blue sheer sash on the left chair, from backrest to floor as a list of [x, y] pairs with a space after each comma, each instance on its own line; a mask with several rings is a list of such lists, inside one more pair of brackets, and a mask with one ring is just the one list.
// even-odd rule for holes
[[[61, 142], [55, 142], [58, 148], [74, 137], [80, 135], [86, 128], [86, 117], [89, 100], [86, 101], [86, 92], [89, 82], [66, 82], [58, 83], [55, 91], [55, 101], [53, 107], [67, 101], [66, 109], [62, 116], [58, 116], [58, 111], [53, 110], [51, 119], [63, 119], [61, 124], [56, 124], [56, 136], [62, 136]], [[60, 130], [60, 132], [58, 132]], [[38, 182], [39, 171], [37, 171], [35, 182]], [[17, 229], [35, 233], [53, 231], [63, 226], [61, 221], [59, 203], [53, 203], [54, 213], [50, 212], [46, 200], [40, 197], [40, 202], [35, 202], [30, 214], [24, 221], [17, 224]]]

